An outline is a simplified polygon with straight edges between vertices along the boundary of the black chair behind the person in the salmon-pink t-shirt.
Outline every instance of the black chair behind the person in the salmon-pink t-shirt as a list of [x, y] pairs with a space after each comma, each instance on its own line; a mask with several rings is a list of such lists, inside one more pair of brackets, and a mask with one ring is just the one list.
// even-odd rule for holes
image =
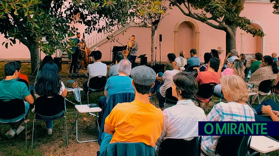
[[200, 103], [203, 103], [203, 102], [198, 100], [197, 97], [199, 97], [201, 99], [209, 99], [208, 102], [212, 101], [212, 95], [214, 92], [215, 85], [216, 85], [215, 83], [199, 85], [197, 94], [194, 95], [191, 99], [194, 101], [194, 103], [197, 101], [199, 104], [199, 107], [201, 106]]

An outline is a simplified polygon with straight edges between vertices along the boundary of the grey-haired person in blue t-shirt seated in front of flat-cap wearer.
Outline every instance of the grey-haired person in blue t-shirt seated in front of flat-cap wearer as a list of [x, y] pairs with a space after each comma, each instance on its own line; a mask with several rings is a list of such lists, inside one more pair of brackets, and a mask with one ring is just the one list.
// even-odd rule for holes
[[117, 93], [135, 93], [132, 86], [132, 79], [129, 77], [131, 72], [131, 62], [129, 60], [121, 60], [117, 64], [117, 72], [119, 75], [108, 78], [104, 89], [104, 96], [100, 97], [99, 107], [106, 108], [109, 97]]

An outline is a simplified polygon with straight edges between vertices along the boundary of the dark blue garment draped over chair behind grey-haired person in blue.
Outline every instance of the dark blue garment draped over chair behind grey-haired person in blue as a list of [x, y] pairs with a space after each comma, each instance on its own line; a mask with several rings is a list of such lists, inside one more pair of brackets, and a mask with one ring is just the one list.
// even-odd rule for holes
[[[109, 97], [107, 106], [104, 110], [104, 114], [102, 116], [102, 123], [100, 126], [100, 131], [98, 135], [98, 142], [99, 145], [101, 145], [101, 136], [102, 133], [104, 132], [104, 122], [108, 114], [112, 111], [114, 106], [116, 106], [118, 103], [124, 103], [124, 102], [132, 102], [135, 100], [135, 94], [134, 93], [117, 93], [113, 94], [112, 96]], [[104, 109], [104, 108], [103, 108]]]

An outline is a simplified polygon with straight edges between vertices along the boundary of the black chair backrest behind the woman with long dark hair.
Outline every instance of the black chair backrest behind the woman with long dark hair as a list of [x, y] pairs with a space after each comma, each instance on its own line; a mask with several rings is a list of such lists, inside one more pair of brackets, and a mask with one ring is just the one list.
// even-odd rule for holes
[[64, 110], [65, 101], [61, 95], [53, 97], [40, 96], [35, 100], [35, 113], [41, 116], [52, 117]]

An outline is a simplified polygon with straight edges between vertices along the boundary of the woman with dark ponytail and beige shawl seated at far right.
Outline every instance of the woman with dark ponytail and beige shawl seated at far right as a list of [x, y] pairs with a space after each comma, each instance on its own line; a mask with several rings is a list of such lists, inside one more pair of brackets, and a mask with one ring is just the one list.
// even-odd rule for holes
[[[275, 81], [277, 79], [277, 73], [278, 73], [278, 68], [277, 64], [274, 62], [271, 56], [265, 55], [263, 56], [262, 60], [262, 68], [259, 68], [256, 70], [250, 77], [249, 84], [253, 84], [253, 92], [256, 92], [257, 94], [252, 97], [252, 101], [254, 102], [259, 91], [259, 84], [264, 81], [264, 80], [274, 80], [272, 83], [273, 85], [275, 84]], [[260, 92], [260, 91], [259, 91]], [[261, 95], [269, 95], [269, 93], [264, 93], [260, 92]], [[261, 102], [264, 99], [265, 96], [260, 96], [259, 95], [259, 101]]]

